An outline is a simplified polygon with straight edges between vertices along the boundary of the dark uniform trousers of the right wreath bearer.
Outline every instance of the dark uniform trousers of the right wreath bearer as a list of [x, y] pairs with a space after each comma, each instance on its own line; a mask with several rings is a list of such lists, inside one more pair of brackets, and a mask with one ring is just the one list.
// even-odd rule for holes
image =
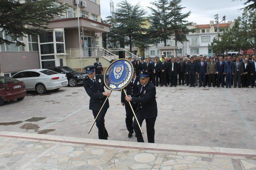
[[[147, 136], [148, 136], [148, 143], [155, 143], [155, 122], [156, 122], [156, 117], [152, 118], [142, 118], [140, 115], [140, 111], [136, 113], [136, 117], [138, 119], [138, 122], [140, 123], [140, 127], [142, 126], [142, 122], [144, 119], [146, 120], [146, 128], [147, 128]], [[140, 131], [140, 127], [138, 127], [138, 123], [136, 120], [134, 120], [134, 131], [137, 136], [137, 141], [138, 142], [144, 142], [142, 133]]]

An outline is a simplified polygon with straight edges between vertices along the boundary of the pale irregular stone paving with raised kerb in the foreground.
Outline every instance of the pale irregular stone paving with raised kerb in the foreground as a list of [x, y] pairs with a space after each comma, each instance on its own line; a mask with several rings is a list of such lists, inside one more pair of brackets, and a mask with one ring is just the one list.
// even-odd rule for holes
[[[163, 150], [164, 148], [166, 151]], [[181, 150], [168, 151], [171, 148]], [[202, 153], [196, 153], [197, 151], [193, 153], [192, 150], [201, 150]], [[229, 153], [224, 154], [222, 151]], [[255, 168], [256, 150], [150, 143], [141, 145], [135, 142], [0, 132], [0, 169], [254, 170]]]

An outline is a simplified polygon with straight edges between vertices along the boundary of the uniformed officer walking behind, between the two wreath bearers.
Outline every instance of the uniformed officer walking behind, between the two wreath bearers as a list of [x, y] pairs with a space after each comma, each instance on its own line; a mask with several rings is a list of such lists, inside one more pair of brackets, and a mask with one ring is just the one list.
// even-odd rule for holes
[[[132, 81], [130, 82], [130, 84], [128, 84], [126, 86], [126, 88], [124, 90], [126, 90], [126, 94], [128, 96], [138, 96], [138, 91], [139, 91], [139, 86], [140, 86], [140, 79], [138, 78], [138, 76], [136, 76], [136, 69], [134, 68], [134, 73], [132, 75]], [[125, 94], [124, 91], [122, 91], [121, 93], [121, 104], [122, 106], [125, 106], [125, 111], [126, 111], [126, 118], [125, 118], [125, 123], [126, 123], [126, 127], [127, 130], [129, 131], [128, 133], [128, 137], [132, 137], [132, 133], [133, 131], [133, 113], [132, 113], [132, 109], [129, 105], [129, 103], [125, 100]], [[137, 104], [136, 103], [132, 103], [132, 108], [135, 111]]]

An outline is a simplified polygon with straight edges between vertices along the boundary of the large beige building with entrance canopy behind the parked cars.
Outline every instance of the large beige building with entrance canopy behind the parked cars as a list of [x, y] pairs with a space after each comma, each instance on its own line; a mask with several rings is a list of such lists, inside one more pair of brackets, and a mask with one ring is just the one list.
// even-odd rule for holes
[[[20, 70], [50, 66], [85, 66], [76, 57], [70, 58], [70, 49], [80, 49], [81, 45], [85, 49], [83, 56], [90, 56], [90, 48], [102, 46], [101, 34], [109, 32], [109, 25], [101, 23], [100, 0], [57, 0], [55, 4], [65, 4], [68, 9], [47, 25], [47, 33], [20, 37], [25, 47], [0, 45], [0, 75], [12, 76]], [[0, 36], [11, 40], [5, 33]]]

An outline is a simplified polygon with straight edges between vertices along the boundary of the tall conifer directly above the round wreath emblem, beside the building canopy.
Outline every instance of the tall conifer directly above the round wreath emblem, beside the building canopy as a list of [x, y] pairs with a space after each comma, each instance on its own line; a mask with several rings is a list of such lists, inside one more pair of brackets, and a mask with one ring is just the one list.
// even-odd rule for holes
[[118, 30], [115, 30], [115, 33], [117, 32], [118, 36], [123, 37], [124, 45], [130, 47], [130, 52], [132, 52], [136, 39], [140, 39], [141, 35], [146, 33], [144, 24], [147, 18], [145, 15], [146, 11], [139, 3], [132, 5], [127, 0], [118, 3], [118, 8], [114, 12], [114, 20], [118, 25], [116, 27]]

